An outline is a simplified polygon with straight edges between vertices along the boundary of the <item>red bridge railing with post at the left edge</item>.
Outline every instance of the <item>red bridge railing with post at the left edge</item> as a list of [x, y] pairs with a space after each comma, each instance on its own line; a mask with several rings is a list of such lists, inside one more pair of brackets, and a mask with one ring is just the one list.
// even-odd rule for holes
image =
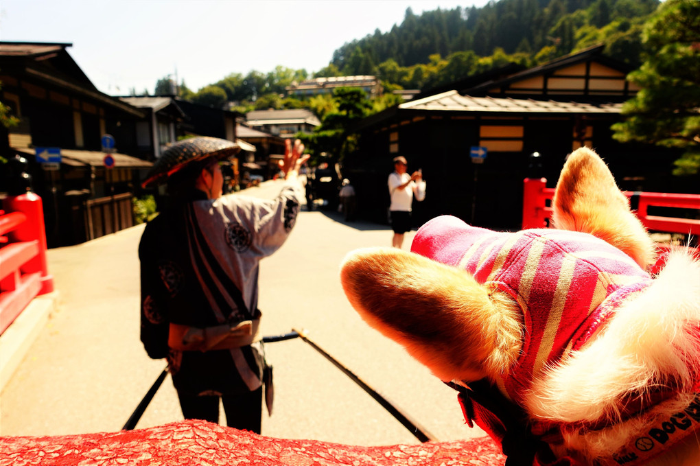
[[0, 211], [0, 334], [34, 297], [53, 291], [46, 267], [41, 197], [33, 192], [3, 199]]

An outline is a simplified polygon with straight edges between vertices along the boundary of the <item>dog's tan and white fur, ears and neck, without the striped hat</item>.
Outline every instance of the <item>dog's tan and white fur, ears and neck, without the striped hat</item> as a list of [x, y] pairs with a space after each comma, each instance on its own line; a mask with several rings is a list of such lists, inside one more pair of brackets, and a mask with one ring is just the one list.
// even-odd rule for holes
[[[552, 205], [556, 228], [592, 234], [640, 267], [652, 264], [654, 243], [593, 151], [582, 148], [568, 157]], [[517, 302], [461, 269], [398, 249], [371, 248], [346, 257], [341, 280], [367, 323], [443, 381], [496, 382], [520, 355], [524, 323]], [[562, 426], [556, 456], [593, 463], [648, 430], [654, 413], [671, 416], [686, 407], [699, 372], [700, 262], [676, 252], [593, 341], [535, 378], [524, 409], [533, 420]], [[644, 400], [659, 386], [676, 395], [648, 416], [620, 415], [623, 400]], [[601, 422], [602, 429], [580, 429]], [[648, 464], [700, 465], [700, 442], [688, 437]]]

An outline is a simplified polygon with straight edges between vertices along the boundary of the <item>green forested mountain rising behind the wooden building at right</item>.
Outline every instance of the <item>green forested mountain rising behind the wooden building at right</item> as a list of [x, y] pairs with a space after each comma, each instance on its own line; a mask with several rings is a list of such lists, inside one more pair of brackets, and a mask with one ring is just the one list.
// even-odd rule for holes
[[[640, 64], [642, 24], [658, 0], [500, 0], [482, 8], [433, 10], [404, 20], [390, 31], [345, 43], [316, 76], [379, 74], [402, 87], [439, 85], [502, 62], [527, 66], [605, 43], [606, 54]], [[484, 58], [491, 57], [491, 60]], [[481, 60], [481, 64], [478, 64]], [[426, 77], [424, 66], [447, 76]], [[419, 76], [413, 77], [416, 70]]]

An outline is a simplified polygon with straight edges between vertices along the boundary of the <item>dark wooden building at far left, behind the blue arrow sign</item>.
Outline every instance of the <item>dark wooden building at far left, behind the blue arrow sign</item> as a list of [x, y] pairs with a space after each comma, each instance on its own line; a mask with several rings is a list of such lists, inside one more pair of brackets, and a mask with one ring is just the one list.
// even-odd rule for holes
[[0, 101], [19, 119], [0, 127], [0, 155], [28, 161], [50, 247], [132, 226], [132, 193], [152, 165], [123, 153], [124, 140], [111, 152], [114, 163], [105, 162], [103, 137], [145, 115], [99, 92], [66, 51], [70, 46], [0, 42]]

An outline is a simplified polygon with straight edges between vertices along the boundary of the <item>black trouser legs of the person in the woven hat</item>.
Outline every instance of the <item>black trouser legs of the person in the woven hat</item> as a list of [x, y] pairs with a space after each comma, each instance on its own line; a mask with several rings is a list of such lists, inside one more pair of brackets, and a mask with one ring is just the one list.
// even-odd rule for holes
[[[218, 423], [218, 396], [190, 396], [178, 393], [182, 414], [186, 419], [204, 419]], [[262, 427], [262, 387], [245, 395], [223, 396], [226, 425], [260, 434]]]

